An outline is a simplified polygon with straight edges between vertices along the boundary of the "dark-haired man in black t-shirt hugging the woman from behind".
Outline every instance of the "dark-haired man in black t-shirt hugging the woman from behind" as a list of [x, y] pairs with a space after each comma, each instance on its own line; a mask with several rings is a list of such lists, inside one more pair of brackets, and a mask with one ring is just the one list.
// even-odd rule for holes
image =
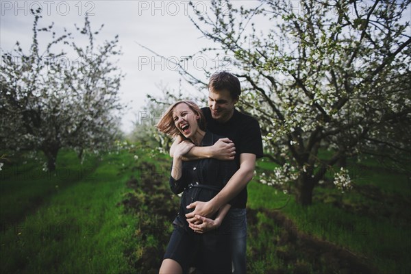
[[[208, 106], [202, 108], [206, 116], [207, 128], [210, 132], [225, 136], [211, 147], [193, 147], [186, 160], [194, 158], [217, 158], [235, 160], [238, 170], [225, 187], [208, 202], [196, 201], [188, 208], [194, 211], [187, 214], [192, 229], [203, 229], [212, 223], [207, 217], [212, 216], [227, 203], [232, 208], [226, 218], [231, 223], [232, 261], [234, 273], [246, 272], [246, 238], [247, 219], [245, 206], [247, 203], [247, 184], [251, 181], [256, 167], [256, 158], [262, 157], [262, 139], [260, 125], [251, 116], [238, 112], [234, 106], [240, 97], [240, 81], [225, 71], [214, 73], [208, 84]], [[170, 149], [183, 141], [177, 138]], [[201, 221], [201, 224], [197, 224]]]

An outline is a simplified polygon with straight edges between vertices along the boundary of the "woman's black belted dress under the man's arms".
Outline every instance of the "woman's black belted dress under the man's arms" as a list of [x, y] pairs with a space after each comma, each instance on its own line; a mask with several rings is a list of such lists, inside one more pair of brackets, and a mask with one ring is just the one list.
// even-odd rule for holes
[[[220, 138], [223, 137], [207, 131], [201, 145], [214, 145]], [[182, 177], [178, 180], [170, 177], [171, 190], [175, 194], [183, 194], [164, 259], [177, 261], [184, 273], [187, 273], [190, 266], [195, 266], [201, 273], [232, 272], [229, 222], [224, 220], [218, 229], [198, 234], [188, 227], [185, 214], [192, 211], [186, 208], [190, 203], [210, 201], [235, 172], [234, 161], [207, 158], [183, 161]]]

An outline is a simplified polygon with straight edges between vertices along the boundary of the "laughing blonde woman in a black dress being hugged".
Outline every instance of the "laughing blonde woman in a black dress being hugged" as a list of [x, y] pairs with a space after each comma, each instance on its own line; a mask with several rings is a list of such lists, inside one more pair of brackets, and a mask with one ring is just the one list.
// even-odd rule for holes
[[203, 113], [191, 101], [171, 105], [157, 127], [160, 132], [184, 139], [175, 148], [170, 177], [171, 190], [183, 194], [160, 273], [187, 273], [190, 266], [201, 273], [231, 273], [229, 227], [224, 221], [230, 206], [224, 206], [213, 216], [209, 227], [212, 230], [190, 229], [185, 216], [191, 211], [186, 208], [190, 203], [209, 201], [223, 188], [235, 173], [236, 164], [212, 158], [182, 161], [182, 157], [195, 145], [211, 146], [223, 136], [206, 130]]

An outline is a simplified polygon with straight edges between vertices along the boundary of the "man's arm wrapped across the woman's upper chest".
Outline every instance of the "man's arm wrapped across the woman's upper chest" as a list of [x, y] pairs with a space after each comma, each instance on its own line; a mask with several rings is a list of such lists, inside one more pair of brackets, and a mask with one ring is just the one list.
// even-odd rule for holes
[[[173, 157], [175, 147], [181, 142], [186, 142], [181, 136], [175, 138], [173, 145], [170, 147], [170, 156]], [[214, 145], [210, 147], [192, 147], [188, 153], [186, 153], [182, 160], [197, 160], [204, 158], [216, 158], [218, 160], [234, 160], [234, 155], [236, 155], [236, 147], [234, 143], [229, 138], [222, 138], [217, 140]]]

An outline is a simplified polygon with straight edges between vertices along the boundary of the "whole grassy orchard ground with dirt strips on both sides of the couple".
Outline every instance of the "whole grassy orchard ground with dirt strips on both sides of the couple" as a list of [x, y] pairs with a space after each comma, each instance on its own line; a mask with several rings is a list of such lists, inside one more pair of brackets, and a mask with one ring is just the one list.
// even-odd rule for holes
[[[168, 156], [128, 147], [80, 164], [61, 151], [55, 172], [12, 160], [0, 171], [1, 273], [158, 272], [179, 201]], [[249, 273], [411, 270], [409, 178], [374, 160], [349, 166], [356, 187], [324, 184], [309, 208], [249, 184]]]

